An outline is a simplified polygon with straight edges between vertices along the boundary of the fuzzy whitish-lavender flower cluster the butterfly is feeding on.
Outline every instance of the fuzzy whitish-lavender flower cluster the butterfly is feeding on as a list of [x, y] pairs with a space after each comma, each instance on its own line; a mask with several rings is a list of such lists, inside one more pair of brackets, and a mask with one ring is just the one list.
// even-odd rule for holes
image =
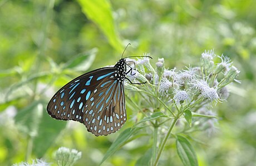
[[[214, 63], [214, 58], [219, 58], [220, 63]], [[164, 58], [157, 60], [155, 68], [146, 57], [133, 61], [132, 64], [136, 64], [136, 70], [127, 74], [127, 78], [136, 83], [146, 81], [147, 84], [144, 85], [147, 88], [127, 85], [126, 89], [144, 91], [178, 110], [182, 106], [196, 112], [200, 107], [213, 106], [227, 100], [229, 91], [226, 85], [233, 81], [239, 82], [236, 79], [240, 71], [232, 65], [232, 61], [224, 55], [216, 56], [213, 50], [201, 54], [199, 66], [189, 66], [180, 71], [176, 68], [166, 69]], [[206, 116], [211, 114], [205, 113]], [[209, 121], [208, 126], [213, 126], [211, 124], [214, 122]]]

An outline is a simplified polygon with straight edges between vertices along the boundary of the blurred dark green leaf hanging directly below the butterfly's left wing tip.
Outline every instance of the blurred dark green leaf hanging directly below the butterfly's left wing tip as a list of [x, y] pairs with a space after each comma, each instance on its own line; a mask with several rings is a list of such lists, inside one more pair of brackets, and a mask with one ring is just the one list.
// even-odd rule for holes
[[58, 121], [50, 117], [46, 111], [46, 105], [43, 108], [42, 118], [37, 131], [38, 134], [34, 139], [33, 146], [33, 153], [35, 153], [37, 158], [43, 157], [67, 123], [66, 121]]

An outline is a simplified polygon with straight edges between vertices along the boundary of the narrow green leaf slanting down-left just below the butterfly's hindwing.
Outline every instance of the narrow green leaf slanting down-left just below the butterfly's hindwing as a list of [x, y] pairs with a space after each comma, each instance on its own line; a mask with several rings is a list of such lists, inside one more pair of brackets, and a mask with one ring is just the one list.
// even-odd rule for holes
[[104, 158], [101, 160], [100, 165], [109, 158], [112, 154], [114, 154], [117, 149], [119, 149], [126, 141], [131, 137], [131, 135], [137, 131], [139, 128], [127, 128], [124, 132], [122, 132], [119, 137], [111, 144], [110, 148], [107, 150]]

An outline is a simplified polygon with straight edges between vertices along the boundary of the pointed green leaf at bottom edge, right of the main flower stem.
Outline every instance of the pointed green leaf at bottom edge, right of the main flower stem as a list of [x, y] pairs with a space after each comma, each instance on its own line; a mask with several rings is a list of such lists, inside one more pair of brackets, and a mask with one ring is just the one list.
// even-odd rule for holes
[[196, 166], [198, 165], [198, 159], [196, 158], [195, 151], [191, 146], [188, 139], [183, 136], [177, 136], [176, 148], [183, 165]]

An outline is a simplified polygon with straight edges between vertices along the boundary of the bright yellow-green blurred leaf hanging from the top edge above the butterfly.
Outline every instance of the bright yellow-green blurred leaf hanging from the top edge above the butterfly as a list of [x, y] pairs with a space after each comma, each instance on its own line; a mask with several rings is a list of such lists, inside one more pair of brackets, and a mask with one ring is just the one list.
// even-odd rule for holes
[[117, 35], [112, 17], [111, 4], [106, 0], [83, 1], [78, 0], [82, 7], [82, 12], [91, 19], [106, 35], [112, 47], [117, 51], [122, 51], [124, 48], [121, 44], [119, 35]]

